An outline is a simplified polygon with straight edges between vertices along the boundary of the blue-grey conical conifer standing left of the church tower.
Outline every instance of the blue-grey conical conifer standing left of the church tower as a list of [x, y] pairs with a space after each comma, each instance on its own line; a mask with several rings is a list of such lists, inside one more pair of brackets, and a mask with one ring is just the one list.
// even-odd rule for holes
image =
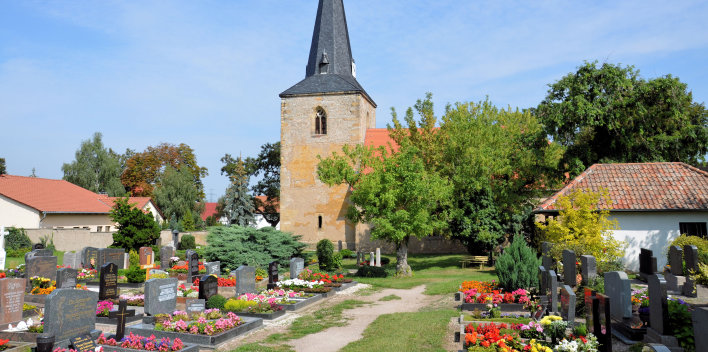
[[248, 194], [248, 173], [241, 157], [236, 160], [234, 172], [229, 176], [231, 186], [226, 189], [224, 213], [230, 224], [250, 226], [256, 223], [253, 197]]

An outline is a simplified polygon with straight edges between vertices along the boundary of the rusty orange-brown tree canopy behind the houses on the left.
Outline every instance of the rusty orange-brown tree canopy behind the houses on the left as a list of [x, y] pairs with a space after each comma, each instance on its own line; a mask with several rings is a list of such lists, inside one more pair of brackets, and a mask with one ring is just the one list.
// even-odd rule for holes
[[194, 150], [184, 143], [178, 146], [162, 143], [157, 147], [149, 146], [145, 151], [133, 154], [125, 161], [121, 181], [133, 196], [151, 197], [167, 166], [175, 170], [186, 166], [197, 187], [199, 200], [204, 199], [204, 186], [201, 179], [209, 172], [207, 168], [197, 164]]

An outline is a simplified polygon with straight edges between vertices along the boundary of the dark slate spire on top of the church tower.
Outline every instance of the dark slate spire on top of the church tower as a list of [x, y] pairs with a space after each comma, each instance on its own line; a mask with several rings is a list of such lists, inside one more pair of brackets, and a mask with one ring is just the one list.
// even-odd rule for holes
[[356, 80], [343, 0], [320, 0], [305, 79], [280, 93], [280, 97], [351, 92], [362, 93], [376, 106]]

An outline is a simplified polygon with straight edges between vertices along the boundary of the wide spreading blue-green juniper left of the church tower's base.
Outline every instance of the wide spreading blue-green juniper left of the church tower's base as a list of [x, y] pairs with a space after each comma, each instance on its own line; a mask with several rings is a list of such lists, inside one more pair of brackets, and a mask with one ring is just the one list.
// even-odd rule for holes
[[218, 226], [208, 230], [204, 257], [208, 261], [221, 261], [221, 265], [228, 268], [244, 264], [267, 267], [272, 261], [287, 266], [290, 258], [299, 256], [305, 248], [305, 244], [299, 242], [301, 236], [272, 227]]

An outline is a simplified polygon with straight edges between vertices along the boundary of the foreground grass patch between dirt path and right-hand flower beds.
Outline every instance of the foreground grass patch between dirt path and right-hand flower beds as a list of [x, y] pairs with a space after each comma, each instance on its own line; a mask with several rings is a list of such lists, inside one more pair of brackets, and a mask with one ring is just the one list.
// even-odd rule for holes
[[385, 314], [364, 331], [364, 337], [345, 346], [341, 351], [445, 351], [443, 340], [452, 309], [415, 313]]

